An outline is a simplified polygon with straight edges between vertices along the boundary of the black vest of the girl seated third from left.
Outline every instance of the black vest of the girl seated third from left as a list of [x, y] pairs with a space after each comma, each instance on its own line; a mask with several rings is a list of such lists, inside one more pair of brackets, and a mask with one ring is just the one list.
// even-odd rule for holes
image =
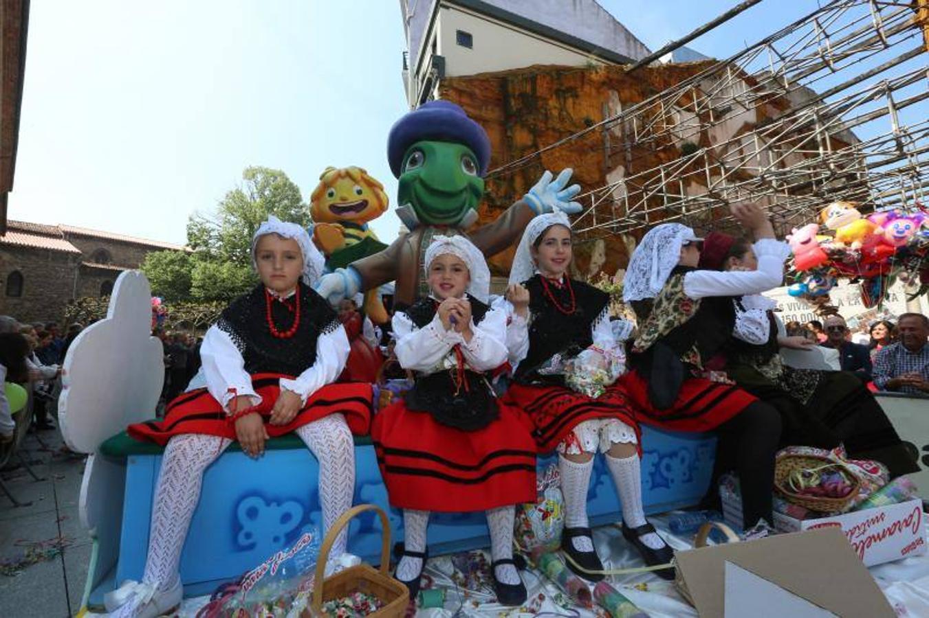
[[[529, 352], [517, 367], [514, 376], [517, 382], [563, 385], [563, 376], [540, 375], [537, 370], [555, 354], [575, 356], [594, 342], [591, 331], [595, 326], [595, 320], [605, 315], [609, 294], [574, 279], [571, 279], [570, 283], [575, 301], [574, 312], [570, 315], [558, 311], [545, 294], [541, 275], [534, 275], [523, 283], [529, 290], [531, 322]], [[570, 306], [568, 286], [556, 287], [549, 284], [548, 290], [561, 307]]]

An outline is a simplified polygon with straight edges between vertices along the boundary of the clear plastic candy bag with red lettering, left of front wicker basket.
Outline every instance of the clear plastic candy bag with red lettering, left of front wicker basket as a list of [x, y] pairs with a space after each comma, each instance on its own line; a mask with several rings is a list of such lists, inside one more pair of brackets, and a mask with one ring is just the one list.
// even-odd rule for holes
[[220, 586], [197, 618], [297, 618], [307, 608], [319, 553], [318, 535], [302, 534], [236, 583]]

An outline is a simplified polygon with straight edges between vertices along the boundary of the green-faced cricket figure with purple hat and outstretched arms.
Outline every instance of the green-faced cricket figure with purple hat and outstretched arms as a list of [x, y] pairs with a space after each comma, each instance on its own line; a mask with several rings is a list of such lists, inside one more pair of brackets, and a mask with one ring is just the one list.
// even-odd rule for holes
[[428, 101], [395, 122], [387, 136], [387, 161], [398, 179], [397, 214], [409, 230], [384, 251], [324, 275], [316, 290], [330, 303], [394, 281], [394, 303], [412, 304], [428, 293], [423, 276], [425, 248], [438, 234], [461, 234], [485, 255], [516, 241], [536, 214], [580, 212], [569, 186], [571, 170], [553, 180], [546, 172], [521, 200], [493, 222], [477, 228], [491, 139], [484, 128], [451, 101]]

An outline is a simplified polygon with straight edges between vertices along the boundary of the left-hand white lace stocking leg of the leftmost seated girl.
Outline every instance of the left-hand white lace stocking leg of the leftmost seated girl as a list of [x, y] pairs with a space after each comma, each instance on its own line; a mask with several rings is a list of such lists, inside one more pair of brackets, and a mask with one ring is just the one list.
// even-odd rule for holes
[[[203, 470], [219, 457], [231, 440], [215, 435], [183, 433], [168, 441], [158, 474], [151, 509], [149, 553], [142, 581], [160, 590], [177, 584], [180, 551], [190, 519], [200, 500]], [[111, 616], [134, 616], [140, 603], [133, 598]]]

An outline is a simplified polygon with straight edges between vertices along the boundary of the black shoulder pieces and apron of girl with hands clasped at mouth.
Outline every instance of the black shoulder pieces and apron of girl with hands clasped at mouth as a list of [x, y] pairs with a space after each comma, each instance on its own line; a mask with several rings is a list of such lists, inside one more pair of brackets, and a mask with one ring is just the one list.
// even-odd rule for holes
[[[471, 296], [471, 319], [477, 326], [490, 307]], [[420, 299], [403, 310], [414, 325], [425, 328], [435, 317], [438, 303], [431, 298]], [[439, 423], [463, 431], [487, 427], [498, 416], [496, 396], [483, 373], [465, 369], [459, 375], [454, 368], [435, 373], [417, 373], [415, 383], [403, 400], [408, 409], [427, 412]]]

